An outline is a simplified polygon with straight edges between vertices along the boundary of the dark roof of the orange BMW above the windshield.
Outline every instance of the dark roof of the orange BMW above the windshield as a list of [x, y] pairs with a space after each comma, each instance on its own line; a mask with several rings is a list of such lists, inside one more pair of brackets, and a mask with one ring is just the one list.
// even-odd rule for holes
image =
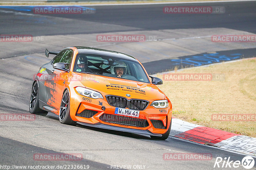
[[[98, 55], [105, 55], [105, 56], [111, 56], [111, 57], [117, 57], [124, 60], [132, 60], [137, 61], [138, 60], [128, 54], [116, 52], [116, 51], [110, 51], [110, 50], [104, 50], [99, 48], [92, 48], [92, 47], [85, 47], [85, 46], [73, 46], [77, 48], [78, 53], [88, 53], [88, 54], [98, 54]], [[69, 47], [70, 48], [70, 47]]]

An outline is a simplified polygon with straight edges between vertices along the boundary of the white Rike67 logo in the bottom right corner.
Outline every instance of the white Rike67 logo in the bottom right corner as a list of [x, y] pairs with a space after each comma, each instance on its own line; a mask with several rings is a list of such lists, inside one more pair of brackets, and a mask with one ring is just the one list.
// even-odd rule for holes
[[221, 157], [217, 157], [214, 163], [214, 168], [238, 168], [241, 164], [245, 169], [251, 169], [254, 166], [254, 159], [251, 156], [245, 156], [242, 161], [240, 160], [230, 160], [230, 157], [228, 159], [225, 157], [222, 159]]

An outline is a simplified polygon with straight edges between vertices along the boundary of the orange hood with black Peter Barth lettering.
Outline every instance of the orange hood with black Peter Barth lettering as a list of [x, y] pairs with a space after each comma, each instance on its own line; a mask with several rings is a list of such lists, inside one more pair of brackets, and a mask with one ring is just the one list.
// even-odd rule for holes
[[[161, 90], [159, 90], [154, 84], [102, 75], [84, 73], [74, 74], [83, 77], [81, 82], [86, 88], [98, 91], [103, 96], [115, 95], [122, 96], [127, 99], [136, 98], [143, 100], [157, 100], [165, 98], [164, 93]], [[129, 94], [131, 96], [126, 94]]]

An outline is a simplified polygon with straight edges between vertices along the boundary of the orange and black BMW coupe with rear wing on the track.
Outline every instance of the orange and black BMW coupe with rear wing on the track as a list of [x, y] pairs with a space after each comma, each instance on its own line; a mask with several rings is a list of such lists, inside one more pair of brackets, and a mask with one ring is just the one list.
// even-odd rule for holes
[[172, 103], [134, 57], [73, 46], [44, 64], [32, 85], [29, 111], [52, 112], [62, 124], [82, 124], [167, 139]]

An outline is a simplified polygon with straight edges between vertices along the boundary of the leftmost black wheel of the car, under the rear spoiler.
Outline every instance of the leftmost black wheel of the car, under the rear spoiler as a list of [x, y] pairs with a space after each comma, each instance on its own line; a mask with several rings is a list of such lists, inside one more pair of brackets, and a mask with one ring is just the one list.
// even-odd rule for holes
[[38, 92], [38, 82], [35, 81], [30, 95], [29, 112], [32, 114], [46, 116], [48, 112], [39, 108]]

